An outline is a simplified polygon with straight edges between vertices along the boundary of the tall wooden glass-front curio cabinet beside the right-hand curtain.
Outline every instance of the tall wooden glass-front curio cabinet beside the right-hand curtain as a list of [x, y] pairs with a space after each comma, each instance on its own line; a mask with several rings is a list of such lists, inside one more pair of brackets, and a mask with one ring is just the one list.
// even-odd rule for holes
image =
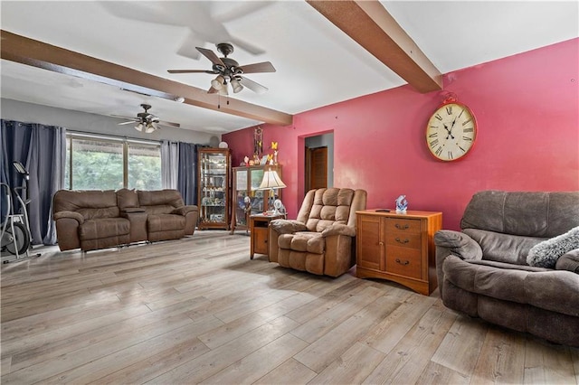
[[231, 157], [228, 148], [200, 148], [198, 153], [199, 230], [229, 229]]

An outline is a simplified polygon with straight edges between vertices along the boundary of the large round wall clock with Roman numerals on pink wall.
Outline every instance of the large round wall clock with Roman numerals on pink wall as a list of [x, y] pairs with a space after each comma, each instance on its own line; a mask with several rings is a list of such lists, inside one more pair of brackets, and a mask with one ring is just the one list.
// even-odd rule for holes
[[477, 137], [477, 122], [470, 109], [457, 102], [438, 108], [426, 127], [426, 145], [442, 161], [467, 155]]

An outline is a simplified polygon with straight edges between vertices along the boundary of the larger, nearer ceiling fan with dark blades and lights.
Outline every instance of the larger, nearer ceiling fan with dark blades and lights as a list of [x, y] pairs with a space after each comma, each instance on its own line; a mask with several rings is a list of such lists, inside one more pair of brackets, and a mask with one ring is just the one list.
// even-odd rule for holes
[[209, 59], [212, 63], [211, 70], [167, 70], [169, 73], [211, 73], [217, 75], [214, 80], [211, 80], [211, 88], [207, 93], [219, 93], [220, 95], [228, 95], [227, 85], [231, 84], [233, 93], [238, 93], [247, 87], [253, 92], [261, 94], [268, 89], [253, 80], [243, 77], [246, 73], [258, 72], [275, 72], [275, 68], [270, 61], [263, 61], [260, 63], [253, 63], [240, 66], [237, 61], [234, 61], [227, 56], [233, 52], [233, 45], [229, 42], [220, 42], [217, 45], [217, 51], [223, 54], [223, 58], [219, 58], [215, 52], [207, 50], [206, 48], [195, 47], [197, 51], [201, 52], [204, 57]]

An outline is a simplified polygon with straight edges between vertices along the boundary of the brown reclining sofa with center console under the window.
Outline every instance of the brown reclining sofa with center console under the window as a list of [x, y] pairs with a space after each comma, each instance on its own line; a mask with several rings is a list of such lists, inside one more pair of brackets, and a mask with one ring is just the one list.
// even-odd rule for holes
[[52, 218], [62, 251], [88, 251], [193, 235], [198, 210], [185, 206], [176, 190], [61, 190], [54, 194]]

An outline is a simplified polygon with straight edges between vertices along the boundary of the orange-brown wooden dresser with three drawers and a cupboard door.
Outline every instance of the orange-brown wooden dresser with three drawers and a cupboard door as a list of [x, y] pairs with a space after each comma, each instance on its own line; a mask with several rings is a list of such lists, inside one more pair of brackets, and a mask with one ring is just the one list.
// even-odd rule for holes
[[434, 233], [442, 213], [356, 211], [356, 277], [384, 278], [429, 296], [436, 281]]

